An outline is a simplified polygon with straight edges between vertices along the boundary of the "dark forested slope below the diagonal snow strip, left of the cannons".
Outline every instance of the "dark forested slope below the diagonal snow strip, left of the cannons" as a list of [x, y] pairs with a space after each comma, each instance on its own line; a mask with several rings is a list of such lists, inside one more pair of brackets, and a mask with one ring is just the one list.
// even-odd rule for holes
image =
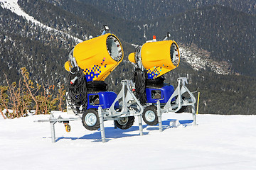
[[[4, 4], [7, 8], [16, 9], [18, 14], [23, 12], [14, 8], [15, 1], [8, 3]], [[48, 28], [36, 20], [28, 20], [29, 17], [18, 16], [1, 6], [1, 71], [5, 72], [11, 81], [18, 81], [19, 69], [26, 67], [36, 82], [63, 82], [60, 80], [60, 70], [63, 70], [62, 58], [66, 58], [70, 46], [79, 42], [78, 38]], [[3, 82], [4, 74], [0, 77]]]

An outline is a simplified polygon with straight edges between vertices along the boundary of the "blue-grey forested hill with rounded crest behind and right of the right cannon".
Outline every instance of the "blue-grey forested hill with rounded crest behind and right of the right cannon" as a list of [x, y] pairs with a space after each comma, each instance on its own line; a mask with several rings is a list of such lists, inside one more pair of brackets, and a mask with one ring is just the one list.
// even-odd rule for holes
[[224, 6], [207, 6], [155, 20], [145, 28], [146, 36], [161, 37], [171, 30], [174, 40], [210, 52], [210, 58], [230, 64], [230, 71], [256, 75], [256, 16]]

